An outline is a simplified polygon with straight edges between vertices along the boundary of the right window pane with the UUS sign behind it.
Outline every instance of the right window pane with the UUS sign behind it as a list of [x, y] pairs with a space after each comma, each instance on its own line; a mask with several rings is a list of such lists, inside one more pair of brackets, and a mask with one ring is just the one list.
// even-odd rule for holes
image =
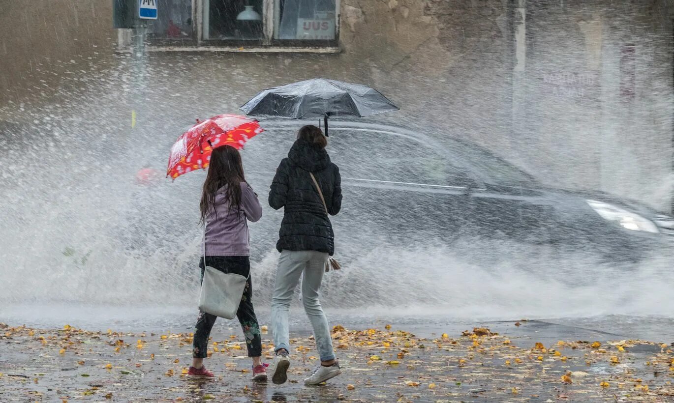
[[277, 4], [276, 39], [335, 39], [335, 0], [278, 0]]

